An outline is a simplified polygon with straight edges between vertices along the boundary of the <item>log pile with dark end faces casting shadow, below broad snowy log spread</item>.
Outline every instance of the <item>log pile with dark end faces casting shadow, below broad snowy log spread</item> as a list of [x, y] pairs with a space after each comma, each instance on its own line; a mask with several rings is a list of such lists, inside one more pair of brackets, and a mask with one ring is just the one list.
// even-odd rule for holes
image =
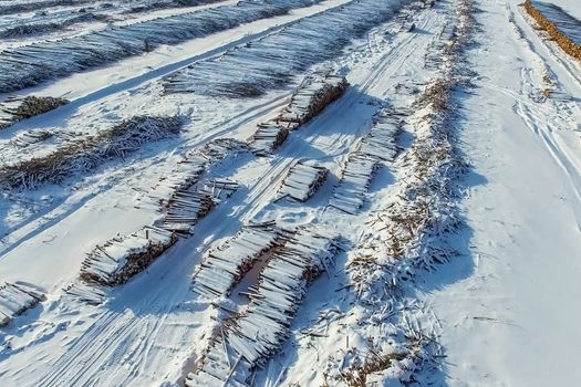
[[251, 146], [260, 156], [282, 145], [289, 133], [308, 123], [345, 93], [349, 83], [331, 74], [313, 74], [297, 88], [289, 105], [277, 118], [258, 125]]

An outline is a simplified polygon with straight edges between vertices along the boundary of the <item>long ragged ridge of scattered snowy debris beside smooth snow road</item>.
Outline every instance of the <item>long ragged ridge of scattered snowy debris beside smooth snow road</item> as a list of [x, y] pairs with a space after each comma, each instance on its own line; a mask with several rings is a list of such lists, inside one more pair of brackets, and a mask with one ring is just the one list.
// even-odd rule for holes
[[[436, 79], [414, 104], [406, 121], [415, 140], [394, 163], [397, 191], [370, 215], [367, 231], [347, 254], [347, 284], [355, 294], [354, 318], [347, 328], [367, 338], [367, 352], [330, 357], [325, 369], [338, 386], [437, 385], [440, 366], [437, 318], [415, 300], [414, 278], [454, 257], [448, 237], [461, 226], [458, 179], [466, 165], [453, 132], [460, 102], [456, 87], [469, 74], [465, 50], [474, 29], [471, 0], [454, 2], [455, 33], [439, 51]], [[449, 48], [453, 48], [452, 50]], [[385, 334], [393, 336], [386, 344]], [[371, 353], [371, 354], [370, 354]]]

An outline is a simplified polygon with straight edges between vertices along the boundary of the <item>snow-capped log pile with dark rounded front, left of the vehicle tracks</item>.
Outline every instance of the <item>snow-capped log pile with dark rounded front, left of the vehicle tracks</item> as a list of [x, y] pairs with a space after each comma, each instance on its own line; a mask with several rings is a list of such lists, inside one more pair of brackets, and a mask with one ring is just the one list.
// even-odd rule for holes
[[108, 286], [121, 285], [144, 271], [176, 240], [174, 233], [153, 227], [113, 238], [87, 254], [82, 263], [81, 279]]

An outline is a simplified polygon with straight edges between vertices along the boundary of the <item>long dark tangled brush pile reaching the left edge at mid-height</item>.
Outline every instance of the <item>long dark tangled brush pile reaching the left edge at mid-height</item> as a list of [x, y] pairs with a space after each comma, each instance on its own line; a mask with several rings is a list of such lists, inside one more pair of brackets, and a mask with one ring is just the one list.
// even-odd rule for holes
[[73, 139], [40, 157], [7, 161], [0, 166], [0, 185], [33, 187], [59, 182], [63, 178], [89, 171], [101, 164], [124, 157], [143, 144], [175, 136], [181, 128], [179, 117], [136, 116], [120, 125]]

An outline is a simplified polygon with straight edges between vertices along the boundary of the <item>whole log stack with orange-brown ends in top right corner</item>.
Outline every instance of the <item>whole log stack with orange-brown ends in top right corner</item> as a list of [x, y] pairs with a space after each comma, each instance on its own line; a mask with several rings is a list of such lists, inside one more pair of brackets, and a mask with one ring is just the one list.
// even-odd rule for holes
[[554, 4], [527, 0], [525, 10], [566, 53], [581, 61], [581, 21]]

